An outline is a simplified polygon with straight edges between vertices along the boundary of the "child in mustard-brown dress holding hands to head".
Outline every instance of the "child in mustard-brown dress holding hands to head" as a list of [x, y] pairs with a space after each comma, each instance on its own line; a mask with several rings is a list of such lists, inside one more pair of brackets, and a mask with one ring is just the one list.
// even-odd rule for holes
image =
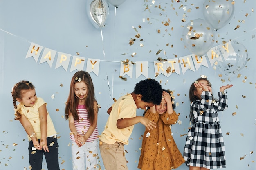
[[178, 120], [173, 103], [170, 93], [163, 90], [161, 104], [150, 107], [144, 114], [156, 123], [156, 128], [144, 132], [138, 165], [141, 170], [176, 169], [185, 162], [172, 137], [170, 125]]

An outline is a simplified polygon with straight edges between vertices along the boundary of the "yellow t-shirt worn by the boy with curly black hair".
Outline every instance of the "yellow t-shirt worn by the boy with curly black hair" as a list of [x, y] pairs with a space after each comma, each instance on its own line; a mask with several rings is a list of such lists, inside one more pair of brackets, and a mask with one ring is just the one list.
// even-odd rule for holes
[[131, 94], [126, 94], [119, 98], [113, 105], [104, 131], [99, 139], [107, 144], [121, 142], [128, 144], [134, 125], [127, 128], [118, 129], [117, 120], [122, 118], [133, 118], [136, 116], [137, 106]]

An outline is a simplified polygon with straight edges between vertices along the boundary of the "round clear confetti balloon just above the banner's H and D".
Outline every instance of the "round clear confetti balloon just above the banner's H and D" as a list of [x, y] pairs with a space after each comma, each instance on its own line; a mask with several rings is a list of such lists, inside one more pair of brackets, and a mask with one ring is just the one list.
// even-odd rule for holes
[[189, 21], [182, 33], [184, 45], [191, 53], [202, 56], [213, 46], [215, 32], [203, 19]]

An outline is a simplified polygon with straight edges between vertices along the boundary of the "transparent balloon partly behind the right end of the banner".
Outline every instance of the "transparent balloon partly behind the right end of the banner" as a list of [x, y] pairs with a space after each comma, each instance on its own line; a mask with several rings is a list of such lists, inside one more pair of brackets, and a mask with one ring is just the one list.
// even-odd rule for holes
[[225, 51], [225, 48], [218, 47], [223, 62], [218, 61], [217, 67], [220, 72], [227, 77], [237, 76], [248, 61], [247, 50], [243, 44], [240, 44], [237, 41], [230, 41], [230, 44], [232, 45], [234, 52], [228, 52], [225, 56], [222, 54], [222, 51]]

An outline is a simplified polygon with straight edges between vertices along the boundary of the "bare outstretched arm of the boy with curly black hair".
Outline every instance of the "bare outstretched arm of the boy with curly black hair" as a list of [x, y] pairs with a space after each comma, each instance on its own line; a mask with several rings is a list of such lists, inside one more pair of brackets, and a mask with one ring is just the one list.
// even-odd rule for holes
[[153, 130], [156, 128], [156, 125], [153, 121], [149, 120], [148, 118], [142, 117], [142, 116], [136, 116], [133, 118], [124, 118], [124, 119], [118, 119], [117, 120], [117, 128], [123, 129], [132, 125], [135, 125], [137, 123], [141, 123], [149, 130]]

